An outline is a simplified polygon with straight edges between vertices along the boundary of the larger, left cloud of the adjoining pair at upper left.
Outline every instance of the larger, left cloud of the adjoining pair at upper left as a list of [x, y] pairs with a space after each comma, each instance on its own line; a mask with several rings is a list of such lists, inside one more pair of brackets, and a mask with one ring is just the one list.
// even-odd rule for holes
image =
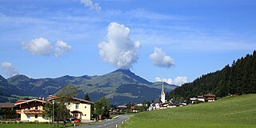
[[30, 51], [31, 54], [50, 56], [53, 46], [46, 38], [35, 38], [30, 42], [22, 42], [22, 49]]

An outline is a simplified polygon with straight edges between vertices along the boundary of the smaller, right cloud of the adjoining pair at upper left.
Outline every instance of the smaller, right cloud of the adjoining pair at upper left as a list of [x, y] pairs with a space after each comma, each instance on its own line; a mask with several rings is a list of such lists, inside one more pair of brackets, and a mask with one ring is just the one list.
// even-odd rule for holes
[[61, 56], [64, 52], [69, 52], [72, 50], [72, 46], [69, 46], [66, 42], [58, 40], [55, 44], [55, 57]]

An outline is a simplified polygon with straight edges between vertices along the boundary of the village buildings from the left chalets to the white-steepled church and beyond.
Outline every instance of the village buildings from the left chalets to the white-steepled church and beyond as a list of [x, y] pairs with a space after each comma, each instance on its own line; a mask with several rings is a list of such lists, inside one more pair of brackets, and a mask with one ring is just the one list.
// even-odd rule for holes
[[[127, 103], [120, 106], [111, 106], [108, 110], [108, 113], [110, 115], [138, 113], [147, 110], [162, 110], [174, 107], [187, 106], [189, 103], [194, 104], [198, 102], [214, 102], [214, 100], [214, 94], [204, 94], [199, 95], [195, 98], [190, 98], [189, 102], [167, 101], [164, 83], [162, 83], [162, 91], [160, 97], [156, 98], [153, 102], [145, 101], [142, 103]], [[5, 115], [1, 115], [0, 120], [15, 120], [18, 122], [56, 122], [57, 120], [56, 117], [54, 119], [54, 116], [46, 118], [46, 110], [44, 109], [47, 103], [51, 103], [50, 107], [54, 107], [55, 101], [58, 101], [57, 96], [48, 95], [46, 98], [24, 98], [22, 100], [18, 100], [15, 103], [1, 102], [0, 110], [15, 110], [16, 115], [12, 118], [8, 118]], [[85, 99], [71, 98], [69, 102], [65, 102], [65, 105], [71, 115], [71, 118], [67, 118], [67, 120], [73, 122], [95, 122], [95, 120], [102, 120], [106, 118], [102, 115], [95, 115], [94, 102], [90, 102]], [[52, 111], [52, 113], [54, 113], [54, 111]]]

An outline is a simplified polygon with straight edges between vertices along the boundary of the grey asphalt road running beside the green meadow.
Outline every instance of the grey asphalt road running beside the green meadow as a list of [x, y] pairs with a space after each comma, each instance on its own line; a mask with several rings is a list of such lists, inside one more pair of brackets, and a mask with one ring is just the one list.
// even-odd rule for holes
[[93, 124], [85, 124], [82, 126], [75, 126], [77, 128], [115, 128], [116, 124], [120, 125], [125, 122], [131, 115], [119, 115], [118, 118], [109, 119], [103, 122]]

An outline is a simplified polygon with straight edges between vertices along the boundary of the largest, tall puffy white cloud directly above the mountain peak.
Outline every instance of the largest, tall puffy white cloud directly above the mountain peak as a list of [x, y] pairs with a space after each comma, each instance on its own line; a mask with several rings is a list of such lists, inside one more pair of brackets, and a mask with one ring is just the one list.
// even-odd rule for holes
[[98, 44], [101, 58], [122, 69], [130, 67], [138, 60], [140, 42], [132, 41], [130, 29], [117, 22], [111, 22], [106, 34], [107, 41]]

